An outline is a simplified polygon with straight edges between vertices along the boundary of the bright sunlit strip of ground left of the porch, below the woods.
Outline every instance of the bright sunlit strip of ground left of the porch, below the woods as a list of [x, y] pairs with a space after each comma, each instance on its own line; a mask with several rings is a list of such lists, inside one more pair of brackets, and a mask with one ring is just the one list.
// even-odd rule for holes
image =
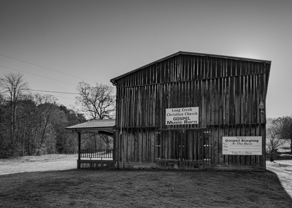
[[24, 156], [18, 159], [0, 159], [0, 175], [74, 169], [77, 168], [77, 159], [77, 154], [50, 154]]

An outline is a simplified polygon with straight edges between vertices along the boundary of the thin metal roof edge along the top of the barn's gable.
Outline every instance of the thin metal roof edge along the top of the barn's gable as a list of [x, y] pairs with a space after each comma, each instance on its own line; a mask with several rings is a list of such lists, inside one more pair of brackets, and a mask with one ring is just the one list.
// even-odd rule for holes
[[[242, 60], [242, 61], [263, 62], [263, 63], [269, 63], [269, 64], [271, 64], [271, 62], [272, 62], [272, 61], [261, 60], [261, 59], [249, 59], [249, 58], [242, 58], [242, 57], [233, 57], [233, 56], [223, 56], [223, 55], [215, 55], [215, 54], [205, 54], [205, 53], [194, 53], [194, 52], [179, 51], [179, 52], [177, 52], [177, 53], [171, 54], [171, 55], [169, 55], [169, 56], [167, 56], [167, 57], [164, 57], [164, 58], [162, 58], [162, 59], [159, 59], [159, 60], [157, 60], [157, 61], [153, 61], [153, 62], [151, 62], [150, 64], [147, 64], [147, 65], [145, 65], [145, 66], [141, 66], [141, 67], [139, 67], [139, 68], [137, 68], [137, 69], [134, 69], [134, 70], [132, 70], [132, 71], [129, 71], [129, 72], [125, 73], [125, 74], [122, 74], [122, 75], [120, 75], [120, 76], [114, 77], [114, 78], [112, 78], [112, 79], [110, 80], [110, 82], [112, 82], [112, 83], [115, 85], [115, 84], [116, 84], [116, 83], [115, 83], [115, 80], [118, 80], [118, 79], [120, 79], [120, 78], [122, 78], [122, 77], [125, 77], [125, 76], [127, 76], [127, 75], [129, 75], [129, 74], [132, 74], [132, 73], [134, 73], [135, 71], [138, 71], [138, 70], [140, 70], [140, 69], [142, 69], [142, 68], [145, 68], [145, 67], [147, 67], [147, 66], [150, 66], [150, 65], [155, 64], [155, 63], [160, 62], [160, 61], [164, 61], [164, 60], [166, 60], [166, 59], [169, 59], [169, 58], [171, 58], [171, 57], [174, 57], [174, 56], [177, 56], [177, 55], [180, 55], [180, 54], [185, 54], [185, 55], [196, 55], [196, 56], [208, 56], [208, 57], [217, 57], [217, 58], [234, 59], [234, 60]], [[268, 72], [268, 73], [269, 73], [269, 72]]]

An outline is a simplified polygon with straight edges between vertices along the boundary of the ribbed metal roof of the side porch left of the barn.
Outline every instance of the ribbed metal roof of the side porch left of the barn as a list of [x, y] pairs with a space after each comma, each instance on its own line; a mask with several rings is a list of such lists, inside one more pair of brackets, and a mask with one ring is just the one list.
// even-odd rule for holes
[[113, 136], [116, 130], [116, 119], [96, 119], [91, 121], [86, 121], [81, 124], [76, 124], [74, 126], [69, 126], [65, 128], [69, 131], [76, 132], [91, 132], [97, 134], [104, 134], [107, 136]]

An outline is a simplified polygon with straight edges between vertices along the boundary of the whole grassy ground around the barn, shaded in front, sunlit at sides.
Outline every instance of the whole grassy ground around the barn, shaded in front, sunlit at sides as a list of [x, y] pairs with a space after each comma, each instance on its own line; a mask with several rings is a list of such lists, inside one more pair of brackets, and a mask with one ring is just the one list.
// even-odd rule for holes
[[[35, 160], [23, 163], [35, 167]], [[42, 164], [50, 161], [39, 160]], [[59, 160], [56, 166], [66, 163], [65, 158]], [[1, 167], [5, 163], [14, 162], [0, 161]], [[69, 169], [2, 173], [0, 207], [291, 207], [291, 168], [291, 161], [276, 161], [267, 162], [266, 172]]]

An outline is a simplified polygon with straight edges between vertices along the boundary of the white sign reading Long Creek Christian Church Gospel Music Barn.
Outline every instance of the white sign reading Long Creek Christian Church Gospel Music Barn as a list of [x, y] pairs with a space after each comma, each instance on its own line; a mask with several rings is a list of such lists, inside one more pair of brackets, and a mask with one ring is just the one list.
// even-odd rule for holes
[[199, 107], [166, 108], [165, 124], [198, 124]]

